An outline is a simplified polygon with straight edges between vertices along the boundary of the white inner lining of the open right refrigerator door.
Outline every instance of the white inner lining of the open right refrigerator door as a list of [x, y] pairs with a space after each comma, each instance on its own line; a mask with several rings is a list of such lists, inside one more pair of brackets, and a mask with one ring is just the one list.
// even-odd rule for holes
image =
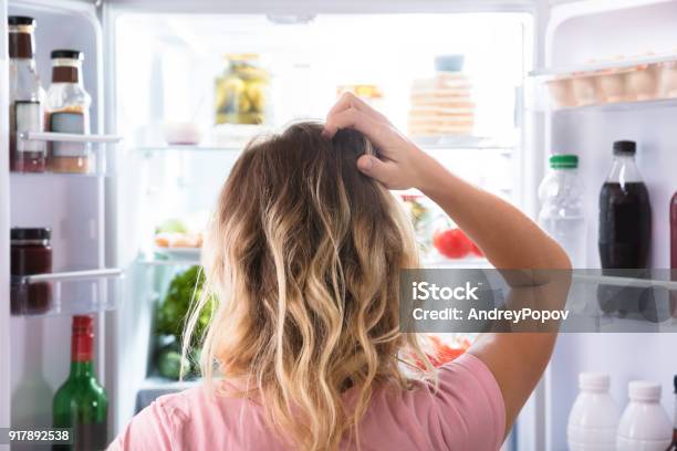
[[[632, 3], [632, 2], [628, 2]], [[635, 2], [642, 3], [642, 2]], [[546, 57], [552, 67], [584, 67], [591, 60], [622, 60], [677, 53], [677, 2], [643, 2], [621, 10], [567, 7], [551, 15]], [[594, 8], [594, 7], [593, 7]], [[603, 32], [601, 32], [603, 30]], [[677, 102], [569, 108], [548, 113], [548, 149], [579, 156], [587, 220], [587, 268], [601, 268], [597, 253], [597, 196], [612, 160], [612, 144], [637, 141], [637, 165], [647, 185], [652, 211], [650, 268], [669, 268], [668, 204], [677, 190]], [[660, 328], [657, 325], [656, 331]], [[548, 449], [566, 449], [566, 421], [577, 394], [577, 374], [608, 373], [611, 392], [624, 408], [627, 382], [649, 379], [663, 385], [663, 406], [671, 412], [677, 373], [675, 335], [562, 334], [546, 378]]]

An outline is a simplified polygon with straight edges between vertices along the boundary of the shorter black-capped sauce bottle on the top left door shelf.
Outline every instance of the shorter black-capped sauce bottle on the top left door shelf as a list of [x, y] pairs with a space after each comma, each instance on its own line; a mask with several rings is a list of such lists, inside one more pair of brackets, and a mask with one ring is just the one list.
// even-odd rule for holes
[[[77, 50], [52, 51], [52, 84], [48, 90], [48, 129], [56, 133], [90, 133], [92, 97], [82, 81], [83, 53]], [[54, 172], [90, 172], [93, 165], [90, 143], [54, 141], [48, 168]]]

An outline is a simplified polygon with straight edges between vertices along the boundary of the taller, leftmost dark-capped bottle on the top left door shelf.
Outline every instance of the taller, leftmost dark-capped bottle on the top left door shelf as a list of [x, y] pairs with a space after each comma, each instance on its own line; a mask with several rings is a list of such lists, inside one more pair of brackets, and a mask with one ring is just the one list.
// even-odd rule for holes
[[18, 172], [43, 172], [46, 144], [22, 139], [28, 132], [44, 130], [44, 91], [35, 67], [35, 19], [8, 18], [10, 168]]

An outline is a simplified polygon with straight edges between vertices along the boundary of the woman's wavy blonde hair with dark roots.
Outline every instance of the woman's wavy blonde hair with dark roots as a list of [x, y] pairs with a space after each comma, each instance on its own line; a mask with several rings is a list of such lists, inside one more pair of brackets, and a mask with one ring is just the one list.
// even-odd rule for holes
[[321, 133], [295, 124], [244, 149], [206, 235], [206, 289], [184, 338], [186, 353], [216, 298], [202, 338], [207, 386], [217, 375], [246, 381], [228, 395], [258, 399], [280, 438], [305, 450], [358, 447], [376, 386], [410, 386], [403, 355], [431, 369], [417, 336], [399, 333], [399, 271], [418, 265], [412, 224], [357, 170], [357, 158], [374, 153], [369, 141], [355, 130]]

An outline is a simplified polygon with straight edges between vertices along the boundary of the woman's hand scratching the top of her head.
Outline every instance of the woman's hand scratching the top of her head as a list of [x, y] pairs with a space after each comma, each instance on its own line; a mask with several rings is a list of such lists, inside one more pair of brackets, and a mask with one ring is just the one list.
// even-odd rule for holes
[[363, 155], [357, 168], [388, 189], [420, 188], [426, 155], [403, 136], [388, 119], [357, 98], [343, 93], [326, 116], [323, 135], [332, 138], [342, 128], [362, 132], [378, 151], [378, 158]]

